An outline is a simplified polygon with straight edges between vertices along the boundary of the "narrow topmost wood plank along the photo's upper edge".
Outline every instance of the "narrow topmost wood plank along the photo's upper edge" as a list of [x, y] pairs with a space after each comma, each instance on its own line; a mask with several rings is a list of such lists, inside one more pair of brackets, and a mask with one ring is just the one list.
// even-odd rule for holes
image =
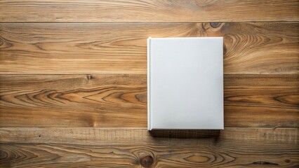
[[298, 8], [296, 0], [6, 0], [0, 22], [298, 21]]

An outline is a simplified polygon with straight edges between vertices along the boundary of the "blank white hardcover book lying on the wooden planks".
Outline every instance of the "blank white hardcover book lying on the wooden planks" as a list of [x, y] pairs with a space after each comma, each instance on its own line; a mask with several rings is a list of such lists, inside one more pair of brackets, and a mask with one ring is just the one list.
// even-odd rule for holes
[[223, 38], [147, 39], [148, 130], [222, 130]]

